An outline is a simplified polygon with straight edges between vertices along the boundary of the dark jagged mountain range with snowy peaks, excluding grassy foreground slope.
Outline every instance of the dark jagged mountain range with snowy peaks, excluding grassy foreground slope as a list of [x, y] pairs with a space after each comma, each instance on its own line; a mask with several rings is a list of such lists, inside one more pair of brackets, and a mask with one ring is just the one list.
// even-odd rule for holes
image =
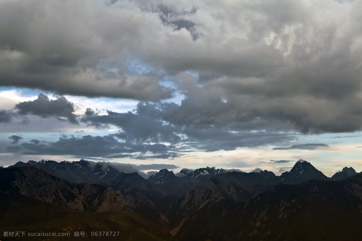
[[[331, 178], [303, 160], [280, 176], [267, 170], [210, 167], [180, 173], [183, 177], [161, 169], [146, 180], [104, 162], [18, 162], [0, 169], [0, 194], [24, 195], [77, 211], [134, 211], [177, 240], [290, 240], [297, 220], [309, 220], [335, 236], [317, 231], [310, 235], [333, 240], [342, 238], [335, 232], [344, 226], [330, 230], [321, 222], [331, 227], [337, 219], [353, 220], [350, 227], [362, 224], [362, 174], [352, 167]], [[357, 232], [350, 240], [357, 240], [354, 235]]]

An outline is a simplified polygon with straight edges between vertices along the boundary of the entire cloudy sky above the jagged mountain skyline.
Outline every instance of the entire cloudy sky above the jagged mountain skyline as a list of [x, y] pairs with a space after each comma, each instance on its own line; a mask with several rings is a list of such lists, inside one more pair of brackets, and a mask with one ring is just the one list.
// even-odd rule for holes
[[0, 1], [0, 165], [361, 172], [361, 9]]

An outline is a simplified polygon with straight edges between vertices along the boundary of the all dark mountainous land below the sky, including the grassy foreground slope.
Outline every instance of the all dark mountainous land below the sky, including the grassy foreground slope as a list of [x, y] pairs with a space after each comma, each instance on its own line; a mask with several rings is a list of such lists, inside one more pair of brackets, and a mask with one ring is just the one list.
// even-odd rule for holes
[[[299, 160], [289, 172], [162, 169], [144, 179], [117, 164], [29, 161], [0, 169], [0, 240], [9, 231], [62, 231], [100, 240], [361, 240], [362, 173], [325, 176]], [[75, 232], [89, 237], [76, 237]]]

